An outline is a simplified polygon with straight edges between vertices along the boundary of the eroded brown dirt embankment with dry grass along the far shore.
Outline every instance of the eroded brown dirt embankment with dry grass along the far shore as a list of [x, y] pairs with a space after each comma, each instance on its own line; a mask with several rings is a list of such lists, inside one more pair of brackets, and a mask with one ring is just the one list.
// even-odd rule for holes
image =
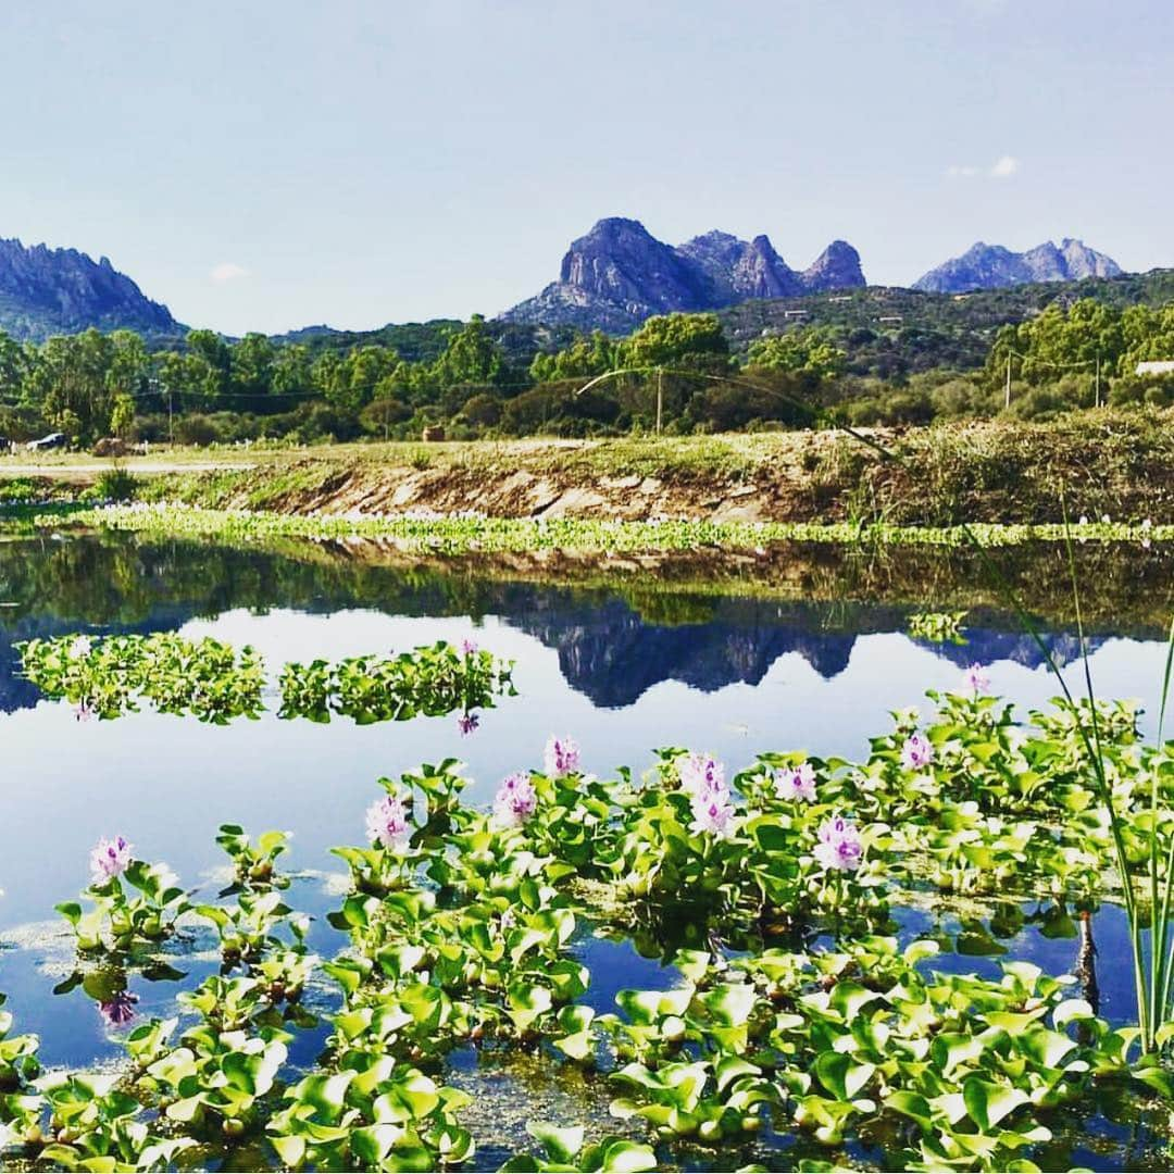
[[1174, 520], [1174, 416], [662, 440], [343, 446], [168, 477], [151, 495], [290, 513], [716, 521]]

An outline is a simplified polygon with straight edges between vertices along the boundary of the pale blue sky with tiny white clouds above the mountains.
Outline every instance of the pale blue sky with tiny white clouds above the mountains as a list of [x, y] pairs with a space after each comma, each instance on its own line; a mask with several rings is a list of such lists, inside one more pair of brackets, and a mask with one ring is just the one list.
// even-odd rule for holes
[[615, 215], [1174, 265], [1170, 0], [46, 0], [0, 100], [0, 236], [234, 335], [492, 316]]

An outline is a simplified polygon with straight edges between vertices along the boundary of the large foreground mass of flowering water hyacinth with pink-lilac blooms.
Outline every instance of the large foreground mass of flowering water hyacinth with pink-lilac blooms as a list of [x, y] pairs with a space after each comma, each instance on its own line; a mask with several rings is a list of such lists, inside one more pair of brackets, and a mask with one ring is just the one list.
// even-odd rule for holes
[[[283, 896], [283, 834], [221, 829], [232, 884], [215, 904], [189, 903], [123, 838], [102, 841], [93, 910], [62, 912], [80, 952], [122, 976], [87, 993], [127, 1030], [126, 1064], [42, 1078], [36, 1039], [0, 1017], [4, 1159], [460, 1168], [477, 1159], [472, 1097], [446, 1071], [472, 1048], [593, 1074], [626, 1122], [588, 1138], [531, 1121], [540, 1152], [506, 1169], [652, 1169], [680, 1162], [679, 1147], [724, 1166], [782, 1132], [822, 1151], [811, 1168], [846, 1165], [866, 1136], [899, 1168], [1038, 1168], [1058, 1111], [1087, 1111], [1098, 1088], [1118, 1088], [1126, 1115], [1131, 1087], [1174, 1095], [1160, 1053], [1139, 1053], [1136, 1030], [1100, 1018], [1071, 976], [936, 970], [937, 943], [902, 946], [890, 910], [911, 893], [1112, 895], [1114, 835], [1156, 837], [1169, 858], [1174, 758], [1140, 741], [1127, 703], [1058, 701], [1021, 724], [985, 690], [972, 669], [958, 693], [930, 695], [925, 718], [895, 714], [855, 763], [781, 751], [731, 774], [669, 748], [641, 780], [598, 778], [552, 737], [541, 768], [502, 778], [487, 809], [463, 802], [453, 760], [380, 780], [355, 812], [362, 841], [335, 849], [350, 883], [329, 960]], [[1089, 784], [1089, 724], [1115, 828]], [[1129, 858], [1116, 884], [1145, 878], [1145, 852]], [[184, 932], [181, 912], [215, 932], [220, 972], [181, 996], [181, 1018], [137, 1023], [127, 978], [141, 951]], [[684, 927], [701, 931], [691, 945]], [[585, 929], [655, 943], [675, 985], [621, 990], [598, 1012]], [[333, 1001], [319, 1012], [303, 996], [322, 980]], [[306, 1071], [294, 1045], [319, 1027]]]

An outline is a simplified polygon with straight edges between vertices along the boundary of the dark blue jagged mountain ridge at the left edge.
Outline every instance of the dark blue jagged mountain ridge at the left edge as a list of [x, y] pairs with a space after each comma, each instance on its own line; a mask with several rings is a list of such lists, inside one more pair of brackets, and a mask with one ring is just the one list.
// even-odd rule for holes
[[76, 249], [0, 239], [0, 330], [15, 338], [126, 328], [148, 337], [182, 333], [171, 311], [151, 302], [106, 258]]

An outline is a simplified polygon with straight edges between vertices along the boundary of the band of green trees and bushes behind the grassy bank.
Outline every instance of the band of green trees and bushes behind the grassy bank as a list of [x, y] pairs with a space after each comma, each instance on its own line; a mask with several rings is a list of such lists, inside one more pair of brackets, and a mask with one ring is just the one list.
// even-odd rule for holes
[[892, 379], [855, 373], [845, 330], [830, 325], [768, 332], [741, 356], [713, 313], [664, 315], [627, 338], [596, 331], [521, 353], [480, 317], [439, 330], [431, 353], [412, 359], [385, 343], [230, 340], [209, 330], [164, 351], [127, 330], [42, 344], [0, 332], [0, 437], [406, 439], [437, 425], [453, 438], [591, 436], [657, 419], [681, 433], [1174, 402], [1174, 378], [1134, 375], [1139, 362], [1174, 358], [1174, 304], [1052, 304], [993, 331], [981, 369]]

